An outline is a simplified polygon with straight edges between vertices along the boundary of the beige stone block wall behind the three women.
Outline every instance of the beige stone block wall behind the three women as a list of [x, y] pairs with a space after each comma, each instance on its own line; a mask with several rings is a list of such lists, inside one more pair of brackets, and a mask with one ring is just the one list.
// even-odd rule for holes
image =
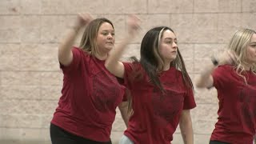
[[[203, 63], [226, 46], [234, 30], [256, 30], [255, 5], [255, 0], [1, 0], [0, 143], [50, 144], [49, 124], [62, 88], [58, 42], [78, 12], [109, 18], [117, 42], [125, 33], [126, 17], [141, 18], [142, 31], [123, 58], [138, 56], [142, 36], [151, 27], [172, 27], [194, 81]], [[217, 120], [216, 90], [195, 90], [195, 98], [194, 141], [205, 144]], [[123, 130], [118, 111], [114, 143]], [[182, 143], [179, 131], [174, 144]]]

